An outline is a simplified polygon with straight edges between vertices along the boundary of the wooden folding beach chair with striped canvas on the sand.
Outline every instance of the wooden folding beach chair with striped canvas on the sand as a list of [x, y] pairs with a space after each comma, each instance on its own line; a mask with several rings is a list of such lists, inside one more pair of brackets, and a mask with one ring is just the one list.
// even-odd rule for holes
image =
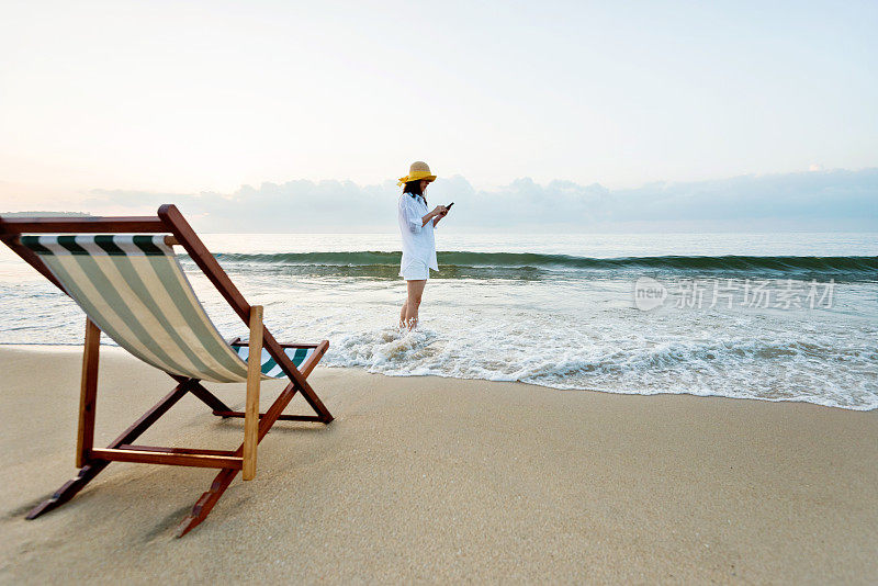
[[[219, 469], [210, 489], [177, 529], [198, 526], [238, 474], [256, 474], [257, 446], [275, 421], [333, 420], [306, 379], [329, 347], [280, 343], [262, 324], [262, 307], [250, 305], [173, 205], [157, 216], [7, 217], [0, 239], [86, 312], [86, 339], [79, 403], [76, 464], [79, 474], [27, 514], [34, 519], [68, 502], [110, 462]], [[248, 341], [226, 342], [207, 317], [183, 273], [175, 246], [181, 246], [249, 328]], [[93, 447], [101, 331], [144, 362], [167, 372], [177, 386], [104, 449]], [[282, 376], [289, 384], [264, 413], [259, 384]], [[202, 381], [246, 382], [246, 407], [236, 412]], [[316, 415], [284, 415], [295, 393]], [[191, 393], [223, 418], [244, 418], [237, 450], [138, 446], [134, 441], [184, 395]]]

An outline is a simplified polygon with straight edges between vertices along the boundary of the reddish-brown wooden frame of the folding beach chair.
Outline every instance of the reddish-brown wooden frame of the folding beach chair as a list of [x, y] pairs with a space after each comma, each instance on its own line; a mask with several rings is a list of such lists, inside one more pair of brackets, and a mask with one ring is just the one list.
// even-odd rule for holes
[[[216, 395], [207, 391], [201, 381], [171, 374], [177, 386], [161, 401], [156, 403], [139, 419], [132, 424], [106, 448], [94, 448], [94, 409], [98, 392], [98, 361], [101, 330], [90, 319], [86, 320], [86, 339], [82, 356], [82, 379], [80, 385], [79, 426], [77, 433], [76, 465], [78, 475], [58, 488], [54, 495], [32, 509], [26, 518], [34, 519], [70, 500], [91, 480], [93, 480], [110, 462], [136, 462], [149, 464], [168, 464], [177, 466], [196, 466], [219, 469], [210, 489], [195, 503], [192, 511], [177, 529], [177, 537], [182, 537], [203, 521], [219, 497], [232, 484], [240, 471], [245, 481], [256, 474], [257, 446], [278, 420], [317, 421], [328, 424], [333, 415], [307, 383], [306, 379], [329, 347], [324, 340], [319, 343], [280, 343], [262, 323], [262, 307], [250, 305], [228, 278], [226, 272], [207, 250], [195, 232], [177, 210], [166, 204], [159, 207], [157, 216], [125, 217], [0, 217], [0, 240], [13, 252], [40, 271], [46, 279], [61, 289], [40, 257], [21, 244], [22, 234], [170, 234], [166, 237], [169, 245], [180, 245], [191, 259], [213, 283], [219, 294], [228, 302], [236, 314], [247, 324], [250, 330], [247, 398], [244, 412], [236, 412], [223, 403]], [[245, 342], [237, 338], [233, 346]], [[261, 379], [261, 349], [281, 367], [290, 383], [281, 392], [266, 413], [259, 413], [259, 383]], [[297, 369], [285, 348], [314, 348], [315, 351]], [[305, 401], [317, 415], [283, 415], [282, 412], [292, 401], [295, 393], [301, 392]], [[165, 415], [187, 393], [207, 405], [213, 414], [223, 418], [244, 418], [244, 442], [237, 450], [203, 450], [191, 448], [166, 448], [138, 446], [133, 443], [147, 428]]]

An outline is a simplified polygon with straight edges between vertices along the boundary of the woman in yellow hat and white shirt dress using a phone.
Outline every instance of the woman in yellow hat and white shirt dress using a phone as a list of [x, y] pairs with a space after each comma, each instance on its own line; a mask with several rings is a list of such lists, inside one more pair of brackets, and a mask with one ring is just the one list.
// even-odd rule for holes
[[430, 269], [438, 271], [436, 262], [436, 239], [432, 230], [439, 221], [446, 217], [448, 209], [437, 205], [432, 212], [427, 210], [424, 191], [436, 179], [424, 161], [415, 161], [408, 174], [399, 178], [397, 185], [403, 193], [397, 203], [397, 218], [403, 237], [403, 260], [399, 262], [399, 275], [408, 285], [408, 296], [399, 312], [399, 327], [414, 328], [418, 323], [418, 307], [424, 294], [424, 285], [430, 278]]

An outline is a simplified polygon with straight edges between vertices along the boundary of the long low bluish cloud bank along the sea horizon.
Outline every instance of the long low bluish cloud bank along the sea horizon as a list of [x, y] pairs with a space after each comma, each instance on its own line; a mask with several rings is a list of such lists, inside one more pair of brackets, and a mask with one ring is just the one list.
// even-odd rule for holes
[[[205, 232], [394, 232], [399, 188], [394, 181], [244, 185], [234, 193], [154, 193], [93, 190], [87, 211], [151, 213], [176, 203]], [[878, 226], [878, 169], [742, 176], [723, 180], [651, 183], [609, 190], [572, 181], [539, 184], [521, 178], [477, 190], [460, 176], [440, 178], [429, 204], [454, 202], [447, 229], [751, 230], [847, 229]]]

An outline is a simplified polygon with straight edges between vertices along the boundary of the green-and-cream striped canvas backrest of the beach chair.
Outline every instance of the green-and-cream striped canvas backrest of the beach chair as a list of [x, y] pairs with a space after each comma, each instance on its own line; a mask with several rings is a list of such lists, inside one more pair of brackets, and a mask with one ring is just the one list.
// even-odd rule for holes
[[244, 382], [247, 364], [219, 335], [164, 235], [22, 236], [89, 318], [166, 372]]

